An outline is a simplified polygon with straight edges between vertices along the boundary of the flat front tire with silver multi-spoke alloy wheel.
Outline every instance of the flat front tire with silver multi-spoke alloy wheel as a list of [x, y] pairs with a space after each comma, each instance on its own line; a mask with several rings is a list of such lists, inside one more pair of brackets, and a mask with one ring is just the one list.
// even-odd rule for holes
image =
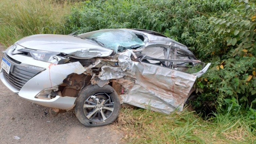
[[110, 85], [88, 85], [76, 98], [75, 113], [84, 126], [104, 126], [116, 120], [120, 105], [118, 94]]

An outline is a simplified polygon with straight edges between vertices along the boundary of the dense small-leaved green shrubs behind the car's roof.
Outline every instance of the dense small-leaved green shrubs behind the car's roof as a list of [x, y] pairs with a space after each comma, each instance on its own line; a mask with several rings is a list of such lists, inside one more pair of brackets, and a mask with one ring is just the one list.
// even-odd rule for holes
[[209, 16], [231, 6], [232, 0], [86, 1], [72, 9], [66, 27], [80, 33], [104, 28], [154, 30], [188, 45], [203, 58], [214, 51]]

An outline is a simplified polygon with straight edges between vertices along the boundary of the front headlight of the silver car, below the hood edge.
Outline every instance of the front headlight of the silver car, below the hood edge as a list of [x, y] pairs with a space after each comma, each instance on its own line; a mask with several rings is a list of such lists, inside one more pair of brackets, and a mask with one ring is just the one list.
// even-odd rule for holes
[[31, 51], [30, 54], [35, 60], [50, 62], [52, 64], [64, 64], [69, 61], [69, 58], [56, 56], [60, 52]]

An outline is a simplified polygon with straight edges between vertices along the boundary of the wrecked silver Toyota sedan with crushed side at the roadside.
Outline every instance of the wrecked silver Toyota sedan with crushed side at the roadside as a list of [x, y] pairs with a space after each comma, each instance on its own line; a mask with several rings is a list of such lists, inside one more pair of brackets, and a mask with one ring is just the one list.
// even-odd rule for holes
[[183, 44], [150, 30], [36, 34], [6, 49], [0, 79], [53, 112], [75, 109], [85, 126], [112, 123], [122, 105], [181, 111], [209, 68]]

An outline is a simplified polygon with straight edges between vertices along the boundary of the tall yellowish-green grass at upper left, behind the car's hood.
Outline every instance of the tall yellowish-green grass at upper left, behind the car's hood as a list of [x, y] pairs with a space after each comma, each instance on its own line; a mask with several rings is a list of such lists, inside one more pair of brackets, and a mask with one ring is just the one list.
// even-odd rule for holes
[[70, 7], [52, 0], [1, 0], [0, 43], [7, 47], [32, 34], [63, 34]]

